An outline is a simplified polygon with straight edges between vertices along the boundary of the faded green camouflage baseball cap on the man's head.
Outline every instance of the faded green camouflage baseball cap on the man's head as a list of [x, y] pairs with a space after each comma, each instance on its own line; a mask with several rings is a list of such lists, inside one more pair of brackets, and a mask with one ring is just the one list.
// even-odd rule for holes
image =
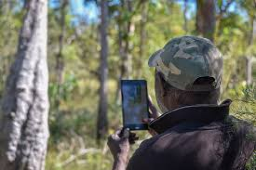
[[[203, 37], [184, 36], [169, 41], [149, 58], [163, 78], [180, 90], [211, 91], [220, 87], [223, 71], [222, 54]], [[195, 85], [199, 78], [211, 77], [209, 85]]]

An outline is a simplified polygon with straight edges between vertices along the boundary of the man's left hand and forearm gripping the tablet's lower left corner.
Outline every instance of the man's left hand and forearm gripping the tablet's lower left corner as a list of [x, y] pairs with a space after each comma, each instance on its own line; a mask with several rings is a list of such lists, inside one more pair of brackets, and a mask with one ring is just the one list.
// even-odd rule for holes
[[107, 145], [114, 157], [113, 170], [125, 170], [128, 163], [130, 144], [138, 139], [129, 129], [116, 131], [108, 137]]

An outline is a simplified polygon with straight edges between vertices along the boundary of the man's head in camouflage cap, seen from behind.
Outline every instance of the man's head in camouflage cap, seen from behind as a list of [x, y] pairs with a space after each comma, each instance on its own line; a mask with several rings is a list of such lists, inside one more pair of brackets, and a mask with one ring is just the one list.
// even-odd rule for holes
[[174, 38], [150, 56], [149, 66], [156, 67], [155, 92], [162, 112], [218, 103], [223, 60], [208, 39]]

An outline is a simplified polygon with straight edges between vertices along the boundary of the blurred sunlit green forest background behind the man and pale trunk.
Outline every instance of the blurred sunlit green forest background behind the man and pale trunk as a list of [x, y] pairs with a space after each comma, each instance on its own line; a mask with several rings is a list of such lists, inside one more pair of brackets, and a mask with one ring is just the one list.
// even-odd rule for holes
[[[0, 0], [0, 96], [28, 1]], [[112, 160], [104, 137], [122, 124], [119, 80], [146, 79], [155, 102], [149, 55], [185, 34], [208, 37], [222, 51], [222, 100], [234, 100], [232, 114], [255, 124], [255, 4], [256, 0], [49, 0], [51, 137], [46, 169], [109, 169]]]

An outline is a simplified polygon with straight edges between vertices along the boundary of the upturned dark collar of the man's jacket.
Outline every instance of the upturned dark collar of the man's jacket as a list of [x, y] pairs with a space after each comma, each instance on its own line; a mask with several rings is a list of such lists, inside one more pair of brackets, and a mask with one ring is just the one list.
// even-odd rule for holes
[[149, 128], [157, 133], [163, 133], [167, 129], [184, 122], [200, 122], [209, 124], [213, 121], [224, 120], [229, 115], [231, 100], [227, 99], [222, 104], [197, 104], [185, 106], [166, 112], [153, 120]]

